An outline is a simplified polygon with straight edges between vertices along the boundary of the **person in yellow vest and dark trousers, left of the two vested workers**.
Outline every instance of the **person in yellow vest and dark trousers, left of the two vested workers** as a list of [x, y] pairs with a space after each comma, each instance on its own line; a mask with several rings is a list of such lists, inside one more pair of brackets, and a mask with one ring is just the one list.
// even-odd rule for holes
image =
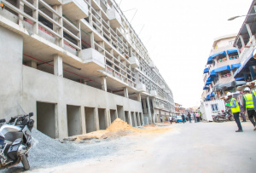
[[232, 93], [228, 92], [227, 96], [228, 96], [228, 100], [230, 100], [230, 104], [226, 103], [225, 106], [230, 107], [231, 112], [234, 115], [234, 118], [238, 127], [238, 130], [236, 130], [236, 132], [242, 132], [241, 123], [239, 119], [240, 107], [236, 99], [232, 96]]

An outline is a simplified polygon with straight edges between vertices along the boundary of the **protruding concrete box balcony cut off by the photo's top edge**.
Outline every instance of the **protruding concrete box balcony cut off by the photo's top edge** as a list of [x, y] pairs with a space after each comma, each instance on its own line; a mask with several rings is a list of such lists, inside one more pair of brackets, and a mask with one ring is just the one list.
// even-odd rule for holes
[[77, 21], [88, 17], [88, 5], [79, 0], [63, 0], [63, 15], [69, 20]]

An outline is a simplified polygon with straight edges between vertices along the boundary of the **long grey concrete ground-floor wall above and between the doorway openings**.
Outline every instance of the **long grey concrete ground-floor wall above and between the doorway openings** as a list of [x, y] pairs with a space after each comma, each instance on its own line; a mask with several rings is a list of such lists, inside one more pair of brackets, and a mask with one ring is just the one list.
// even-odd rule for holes
[[[94, 122], [96, 122], [96, 127], [92, 127], [94, 130], [99, 130], [98, 107], [108, 110], [108, 124], [110, 124], [111, 114], [109, 109], [117, 110], [117, 104], [119, 104], [119, 116], [124, 120], [124, 110], [142, 112], [141, 102], [139, 101], [113, 95], [101, 89], [79, 84], [67, 78], [57, 77], [29, 66], [23, 66], [22, 78], [23, 89], [21, 93], [23, 94], [23, 107], [26, 112], [36, 112], [37, 101], [57, 103], [55, 110], [55, 115], [57, 116], [56, 134], [60, 138], [68, 136], [67, 105], [94, 107]], [[87, 115], [88, 112], [85, 109], [86, 132], [88, 133], [88, 130], [92, 129], [90, 124], [87, 123], [87, 121], [91, 121], [91, 119], [87, 119]], [[37, 122], [36, 113], [34, 119]]]

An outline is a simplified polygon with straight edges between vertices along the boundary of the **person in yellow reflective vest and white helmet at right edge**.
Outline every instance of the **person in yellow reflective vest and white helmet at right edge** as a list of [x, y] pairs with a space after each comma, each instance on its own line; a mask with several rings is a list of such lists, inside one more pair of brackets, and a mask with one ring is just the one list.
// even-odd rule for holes
[[248, 118], [254, 126], [253, 130], [256, 130], [256, 127], [255, 127], [256, 124], [254, 121], [256, 119], [256, 112], [253, 106], [253, 95], [250, 94], [250, 90], [251, 89], [249, 87], [246, 87], [243, 90], [244, 95], [242, 96], [242, 103], [243, 103], [243, 109], [247, 111]]

